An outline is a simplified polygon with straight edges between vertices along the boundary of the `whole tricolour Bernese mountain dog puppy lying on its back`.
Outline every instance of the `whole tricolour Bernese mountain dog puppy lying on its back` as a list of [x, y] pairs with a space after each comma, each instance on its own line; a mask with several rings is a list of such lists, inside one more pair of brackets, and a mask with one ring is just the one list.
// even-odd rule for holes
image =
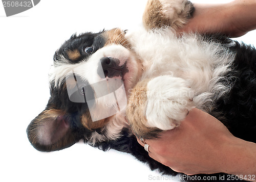
[[131, 153], [163, 174], [137, 137], [158, 137], [199, 108], [256, 142], [256, 50], [220, 35], [176, 35], [194, 7], [149, 0], [144, 28], [72, 35], [54, 55], [50, 99], [27, 128], [40, 151], [83, 140]]

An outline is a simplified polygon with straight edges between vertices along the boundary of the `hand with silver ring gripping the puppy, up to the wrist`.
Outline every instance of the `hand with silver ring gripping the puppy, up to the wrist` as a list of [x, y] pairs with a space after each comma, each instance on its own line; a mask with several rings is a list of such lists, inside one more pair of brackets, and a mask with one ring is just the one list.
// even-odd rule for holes
[[[148, 154], [174, 171], [188, 175], [221, 172], [220, 148], [233, 137], [216, 118], [193, 109], [179, 127], [145, 140]], [[138, 142], [144, 144], [138, 139]]]

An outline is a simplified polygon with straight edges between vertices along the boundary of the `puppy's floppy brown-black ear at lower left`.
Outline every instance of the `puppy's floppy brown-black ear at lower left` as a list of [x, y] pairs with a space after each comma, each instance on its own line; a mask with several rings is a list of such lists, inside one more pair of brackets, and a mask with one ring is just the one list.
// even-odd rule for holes
[[40, 151], [61, 150], [79, 140], [70, 127], [69, 117], [56, 109], [41, 112], [29, 124], [27, 134], [33, 147]]

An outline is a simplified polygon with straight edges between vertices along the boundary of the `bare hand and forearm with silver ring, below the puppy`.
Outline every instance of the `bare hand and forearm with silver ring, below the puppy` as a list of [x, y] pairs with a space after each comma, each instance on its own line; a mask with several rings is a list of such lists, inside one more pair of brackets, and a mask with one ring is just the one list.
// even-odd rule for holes
[[196, 108], [179, 127], [145, 142], [151, 158], [177, 172], [256, 175], [256, 144], [234, 137], [219, 120]]

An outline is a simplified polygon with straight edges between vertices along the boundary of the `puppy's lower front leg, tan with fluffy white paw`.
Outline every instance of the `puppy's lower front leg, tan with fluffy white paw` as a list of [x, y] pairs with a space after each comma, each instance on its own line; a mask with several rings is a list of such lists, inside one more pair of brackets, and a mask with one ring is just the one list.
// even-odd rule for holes
[[194, 108], [193, 91], [185, 80], [170, 75], [139, 82], [126, 109], [127, 120], [138, 137], [157, 137], [163, 130], [179, 126]]

